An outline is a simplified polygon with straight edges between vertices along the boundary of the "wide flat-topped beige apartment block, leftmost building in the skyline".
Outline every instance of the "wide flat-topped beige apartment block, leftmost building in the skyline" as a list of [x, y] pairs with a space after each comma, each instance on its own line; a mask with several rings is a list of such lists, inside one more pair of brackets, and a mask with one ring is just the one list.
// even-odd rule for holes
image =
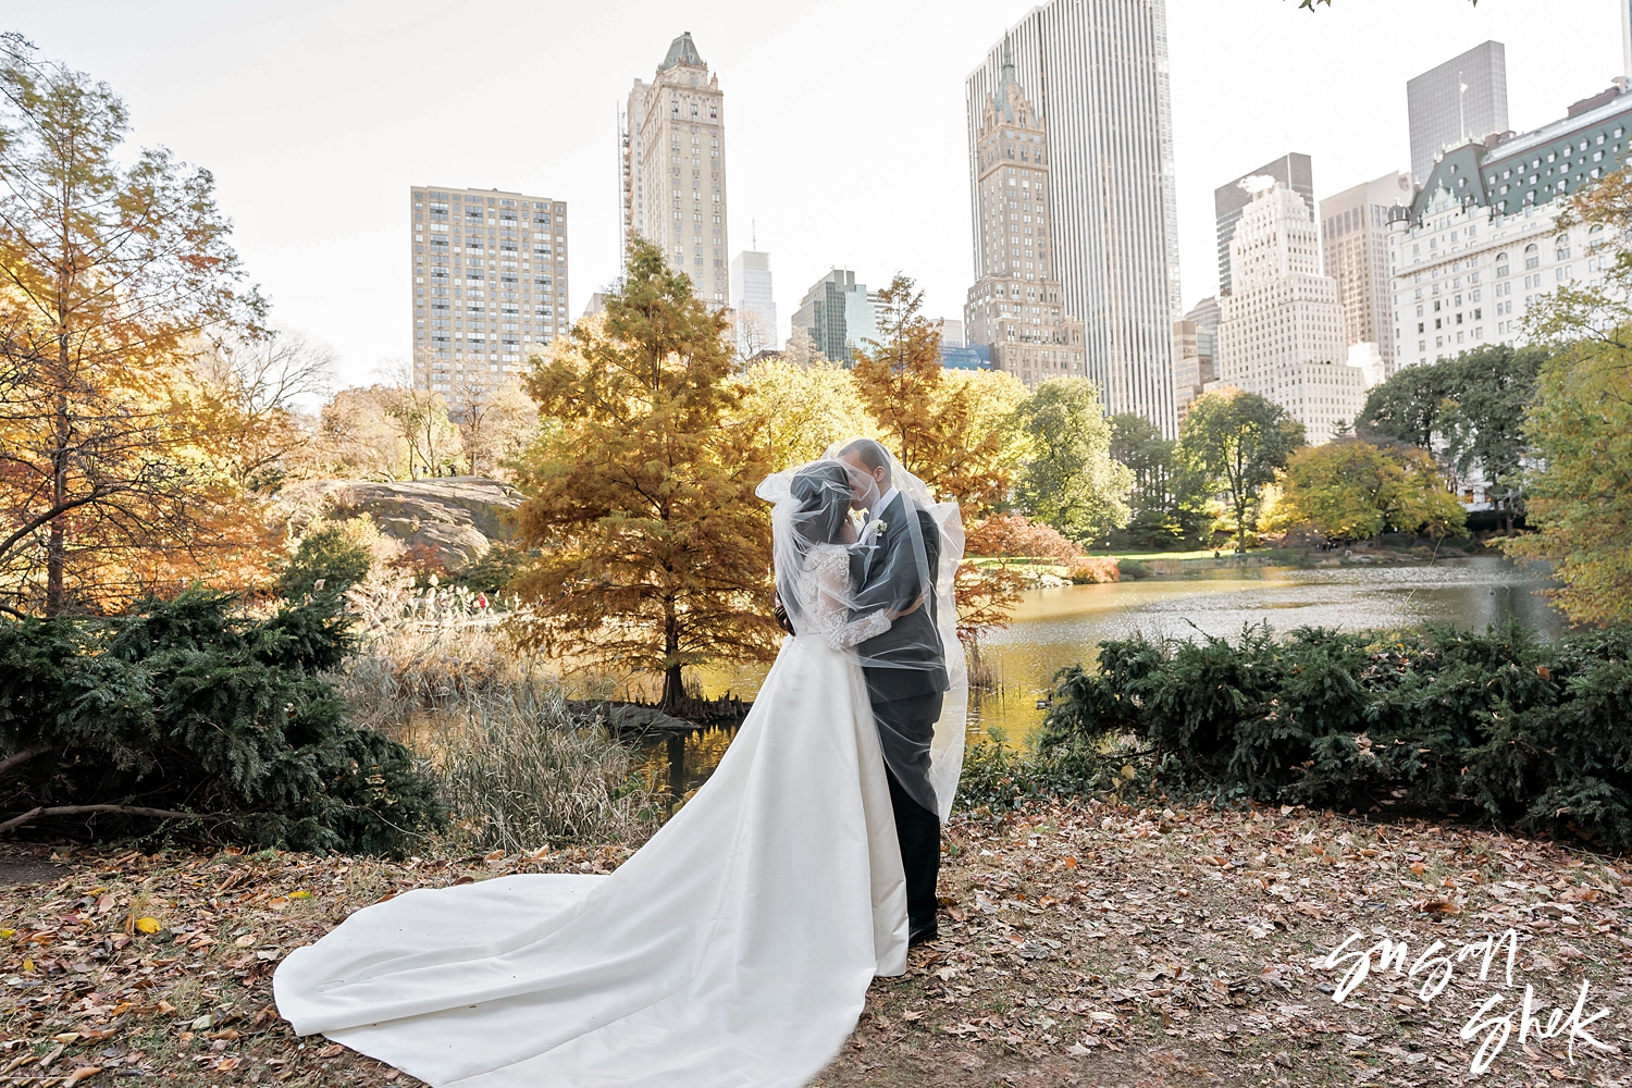
[[436, 186], [413, 186], [408, 202], [413, 382], [459, 409], [566, 331], [566, 204]]

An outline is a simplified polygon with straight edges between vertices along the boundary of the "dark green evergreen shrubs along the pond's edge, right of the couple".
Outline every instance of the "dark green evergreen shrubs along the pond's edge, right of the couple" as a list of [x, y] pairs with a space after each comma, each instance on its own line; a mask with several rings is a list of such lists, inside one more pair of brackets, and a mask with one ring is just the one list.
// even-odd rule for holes
[[1180, 788], [1632, 847], [1629, 628], [1106, 641], [1061, 670], [1040, 759], [1128, 736]]

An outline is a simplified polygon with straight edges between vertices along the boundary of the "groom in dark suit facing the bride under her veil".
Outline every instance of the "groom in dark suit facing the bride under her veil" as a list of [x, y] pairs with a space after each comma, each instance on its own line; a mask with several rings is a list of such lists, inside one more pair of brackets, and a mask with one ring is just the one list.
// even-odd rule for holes
[[[935, 881], [940, 876], [940, 816], [929, 780], [929, 747], [948, 688], [947, 656], [935, 615], [940, 529], [916, 509], [919, 533], [906, 522], [906, 499], [889, 480], [889, 455], [871, 439], [857, 439], [839, 460], [871, 478], [868, 529], [855, 550], [857, 612], [886, 607], [898, 618], [888, 631], [855, 648], [889, 775], [889, 801], [907, 878], [909, 943], [934, 941]], [[873, 496], [880, 496], [876, 502]], [[922, 538], [924, 555], [916, 540]], [[920, 566], [920, 559], [924, 561]], [[924, 577], [929, 584], [924, 584]]]

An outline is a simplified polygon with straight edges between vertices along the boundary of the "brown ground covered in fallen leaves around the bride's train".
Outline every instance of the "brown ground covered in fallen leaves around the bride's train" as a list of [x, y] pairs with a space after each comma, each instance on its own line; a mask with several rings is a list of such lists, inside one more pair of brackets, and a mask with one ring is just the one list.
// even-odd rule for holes
[[[873, 985], [824, 1088], [907, 1085], [1457, 1085], [1487, 1031], [1511, 1036], [1479, 1083], [1632, 1085], [1632, 865], [1438, 824], [1304, 811], [1089, 803], [947, 834], [942, 941]], [[0, 853], [46, 882], [0, 889], [0, 1083], [415, 1085], [271, 1008], [271, 972], [351, 910], [410, 887], [517, 871], [610, 871], [622, 850], [542, 856], [315, 858], [263, 851]], [[41, 869], [41, 863], [59, 869]], [[34, 869], [15, 868], [34, 863]], [[1518, 935], [1480, 979], [1485, 936]], [[153, 930], [153, 931], [145, 931]], [[1343, 1005], [1325, 954], [1387, 936]], [[1443, 941], [1441, 949], [1430, 949]], [[1415, 975], [1410, 969], [1421, 962]], [[1443, 966], [1441, 966], [1443, 964]], [[1449, 982], [1431, 1000], [1423, 985]], [[1526, 984], [1539, 1026], [1519, 1042]], [[139, 1080], [140, 1078], [140, 1080]]]

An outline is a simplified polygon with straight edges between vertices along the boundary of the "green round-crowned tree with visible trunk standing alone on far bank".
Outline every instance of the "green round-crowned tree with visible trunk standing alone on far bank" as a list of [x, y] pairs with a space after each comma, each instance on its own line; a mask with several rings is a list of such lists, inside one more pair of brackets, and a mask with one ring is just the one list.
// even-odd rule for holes
[[1206, 393], [1190, 408], [1175, 457], [1209, 491], [1226, 496], [1235, 551], [1247, 550], [1247, 527], [1258, 520], [1263, 488], [1302, 442], [1304, 426], [1257, 393]]

